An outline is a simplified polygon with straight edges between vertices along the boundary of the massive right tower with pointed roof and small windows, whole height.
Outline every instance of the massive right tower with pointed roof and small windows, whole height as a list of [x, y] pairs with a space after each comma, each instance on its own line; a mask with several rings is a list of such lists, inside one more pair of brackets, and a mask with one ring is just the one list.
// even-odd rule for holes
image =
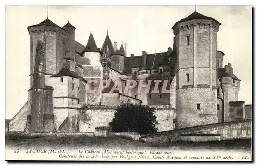
[[176, 128], [218, 123], [217, 20], [194, 12], [172, 27], [177, 50]]

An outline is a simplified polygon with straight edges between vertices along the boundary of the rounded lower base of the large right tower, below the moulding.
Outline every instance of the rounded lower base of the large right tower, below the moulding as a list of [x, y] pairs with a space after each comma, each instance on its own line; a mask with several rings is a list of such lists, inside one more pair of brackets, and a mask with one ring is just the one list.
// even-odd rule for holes
[[[211, 88], [177, 89], [176, 128], [217, 123], [215, 94], [216, 89]], [[197, 104], [200, 104], [199, 110]]]

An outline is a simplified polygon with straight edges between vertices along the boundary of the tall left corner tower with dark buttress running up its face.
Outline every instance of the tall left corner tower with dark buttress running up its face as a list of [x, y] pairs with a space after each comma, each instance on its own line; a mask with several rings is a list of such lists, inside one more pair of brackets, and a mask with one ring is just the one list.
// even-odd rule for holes
[[[45, 131], [46, 114], [53, 115], [50, 75], [63, 65], [63, 46], [66, 30], [48, 18], [28, 27], [30, 35], [30, 89], [28, 90], [28, 118], [31, 132]], [[48, 102], [46, 102], [48, 100]], [[47, 106], [48, 104], [49, 107]], [[27, 121], [27, 122], [28, 122]], [[51, 121], [51, 120], [50, 120]]]

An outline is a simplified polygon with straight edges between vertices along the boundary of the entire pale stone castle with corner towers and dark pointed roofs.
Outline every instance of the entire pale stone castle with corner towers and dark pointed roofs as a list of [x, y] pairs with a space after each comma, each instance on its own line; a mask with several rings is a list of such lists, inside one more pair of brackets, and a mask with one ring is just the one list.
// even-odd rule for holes
[[[93, 115], [96, 112], [91, 108], [97, 107], [103, 110], [104, 119], [104, 106], [126, 102], [149, 105], [157, 111], [166, 108], [157, 119], [171, 128], [158, 131], [244, 119], [244, 102], [238, 102], [240, 79], [230, 63], [223, 68], [224, 53], [217, 49], [220, 25], [193, 12], [172, 27], [173, 49], [154, 54], [142, 51], [141, 56], [127, 56], [127, 45], [122, 43], [117, 49], [108, 33], [101, 48], [92, 33], [84, 46], [75, 40], [76, 28], [69, 22], [60, 27], [47, 18], [29, 26], [28, 101], [10, 121], [8, 131], [87, 132], [90, 127], [83, 127], [78, 110], [90, 109], [88, 114]], [[109, 80], [111, 86], [99, 90], [103, 80]], [[151, 87], [126, 90], [129, 80], [144, 85], [150, 80]], [[112, 90], [116, 85], [120, 89]], [[95, 91], [89, 93], [88, 89]], [[107, 125], [112, 116], [103, 123]]]

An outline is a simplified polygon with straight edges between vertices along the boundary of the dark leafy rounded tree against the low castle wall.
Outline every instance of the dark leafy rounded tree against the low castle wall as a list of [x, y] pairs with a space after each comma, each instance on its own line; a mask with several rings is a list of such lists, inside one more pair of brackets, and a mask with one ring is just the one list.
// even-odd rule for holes
[[113, 121], [109, 123], [113, 132], [138, 132], [140, 134], [157, 132], [154, 109], [145, 105], [126, 103], [118, 107]]

